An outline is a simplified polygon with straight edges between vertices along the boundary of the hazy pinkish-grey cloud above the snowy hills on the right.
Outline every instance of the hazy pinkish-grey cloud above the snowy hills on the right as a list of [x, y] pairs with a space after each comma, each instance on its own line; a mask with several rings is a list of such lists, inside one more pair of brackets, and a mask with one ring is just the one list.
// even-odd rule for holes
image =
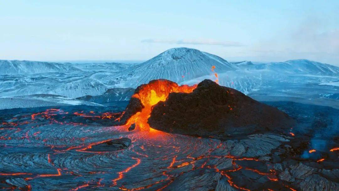
[[304, 58], [339, 65], [339, 28], [312, 17], [248, 48], [247, 55], [258, 61]]

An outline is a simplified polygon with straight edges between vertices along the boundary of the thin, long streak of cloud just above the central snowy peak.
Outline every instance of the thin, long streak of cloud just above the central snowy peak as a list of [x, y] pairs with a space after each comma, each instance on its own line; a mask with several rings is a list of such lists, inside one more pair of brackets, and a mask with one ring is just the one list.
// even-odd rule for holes
[[144, 43], [167, 43], [167, 44], [192, 44], [192, 45], [220, 45], [220, 46], [243, 46], [240, 42], [215, 41], [215, 40], [155, 40], [145, 39]]

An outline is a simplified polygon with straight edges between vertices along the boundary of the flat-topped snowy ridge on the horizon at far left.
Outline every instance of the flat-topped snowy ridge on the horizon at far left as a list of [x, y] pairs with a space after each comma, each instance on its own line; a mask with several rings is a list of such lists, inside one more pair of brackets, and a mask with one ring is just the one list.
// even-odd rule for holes
[[0, 60], [0, 75], [38, 74], [38, 73], [75, 73], [81, 69], [56, 62], [26, 60]]

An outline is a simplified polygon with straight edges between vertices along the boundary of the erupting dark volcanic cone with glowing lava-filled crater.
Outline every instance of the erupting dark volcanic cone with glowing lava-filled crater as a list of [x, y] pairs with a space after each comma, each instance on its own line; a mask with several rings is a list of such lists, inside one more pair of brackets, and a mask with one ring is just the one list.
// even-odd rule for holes
[[219, 138], [294, 125], [286, 113], [212, 80], [179, 86], [165, 79], [140, 85], [120, 122], [135, 123], [140, 129]]

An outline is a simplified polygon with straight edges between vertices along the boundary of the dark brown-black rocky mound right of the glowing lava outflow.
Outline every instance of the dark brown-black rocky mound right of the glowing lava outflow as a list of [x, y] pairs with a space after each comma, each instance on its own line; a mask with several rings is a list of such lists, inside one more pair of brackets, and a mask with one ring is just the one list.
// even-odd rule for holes
[[294, 120], [245, 94], [204, 80], [192, 93], [171, 93], [148, 118], [157, 130], [222, 138], [291, 128]]

